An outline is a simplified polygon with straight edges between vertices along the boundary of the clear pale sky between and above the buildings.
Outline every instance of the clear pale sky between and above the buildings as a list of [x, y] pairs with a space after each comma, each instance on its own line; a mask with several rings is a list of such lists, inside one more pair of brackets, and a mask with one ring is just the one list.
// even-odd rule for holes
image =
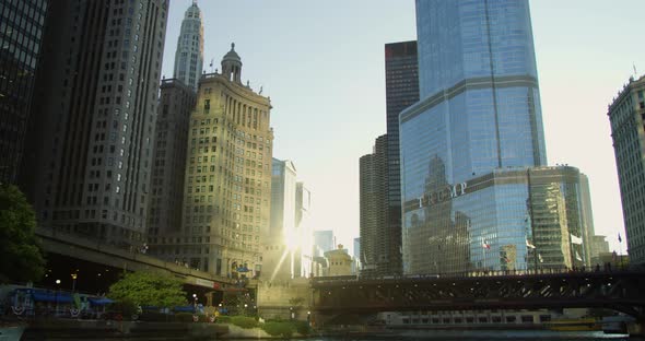
[[[171, 78], [191, 0], [172, 0], [163, 63]], [[643, 0], [532, 0], [550, 165], [589, 176], [596, 233], [624, 252], [624, 223], [607, 105], [645, 73]], [[417, 38], [413, 0], [200, 0], [204, 69], [235, 42], [242, 78], [271, 97], [273, 156], [312, 190], [316, 230], [350, 250], [359, 236], [359, 157], [385, 133], [386, 43]], [[623, 243], [618, 243], [618, 233]]]

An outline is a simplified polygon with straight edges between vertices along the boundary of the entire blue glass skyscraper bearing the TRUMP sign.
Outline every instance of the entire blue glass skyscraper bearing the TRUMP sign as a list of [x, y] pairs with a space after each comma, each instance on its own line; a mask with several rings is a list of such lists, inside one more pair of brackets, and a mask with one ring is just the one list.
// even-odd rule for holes
[[585, 263], [580, 174], [546, 167], [528, 1], [418, 0], [417, 28], [421, 99], [399, 116], [403, 272]]

